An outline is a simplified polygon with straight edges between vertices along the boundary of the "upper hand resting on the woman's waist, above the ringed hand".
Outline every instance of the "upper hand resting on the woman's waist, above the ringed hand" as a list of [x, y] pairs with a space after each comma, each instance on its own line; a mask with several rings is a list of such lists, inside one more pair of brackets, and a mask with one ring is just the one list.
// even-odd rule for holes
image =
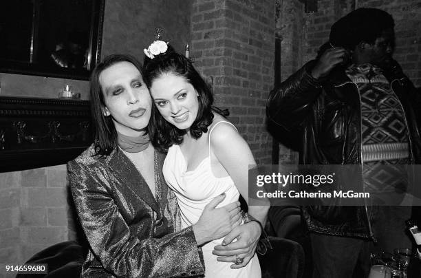
[[215, 197], [206, 204], [202, 215], [193, 225], [197, 245], [200, 246], [213, 239], [224, 237], [241, 224], [240, 203], [233, 202], [216, 208], [225, 199], [225, 193]]

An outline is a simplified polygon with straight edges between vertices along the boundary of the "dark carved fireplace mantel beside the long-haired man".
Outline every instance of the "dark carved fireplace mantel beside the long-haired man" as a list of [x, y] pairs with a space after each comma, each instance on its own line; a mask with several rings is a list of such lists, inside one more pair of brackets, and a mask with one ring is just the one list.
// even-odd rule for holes
[[0, 97], [0, 172], [65, 164], [92, 142], [88, 100]]

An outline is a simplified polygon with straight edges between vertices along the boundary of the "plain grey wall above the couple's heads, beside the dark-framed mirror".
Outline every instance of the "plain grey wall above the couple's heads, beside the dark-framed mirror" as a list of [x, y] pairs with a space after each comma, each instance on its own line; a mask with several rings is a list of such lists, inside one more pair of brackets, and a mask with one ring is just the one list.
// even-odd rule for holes
[[153, 41], [158, 27], [164, 29], [162, 39], [175, 50], [184, 50], [190, 41], [192, 1], [106, 1], [101, 56], [125, 53], [143, 61], [143, 49]]

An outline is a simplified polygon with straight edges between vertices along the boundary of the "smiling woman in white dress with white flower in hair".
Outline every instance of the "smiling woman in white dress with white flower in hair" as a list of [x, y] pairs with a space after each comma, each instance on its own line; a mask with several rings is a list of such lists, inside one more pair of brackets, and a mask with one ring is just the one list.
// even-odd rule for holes
[[[240, 193], [247, 201], [248, 165], [255, 165], [255, 160], [235, 126], [224, 118], [228, 111], [212, 106], [213, 95], [202, 76], [170, 45], [154, 41], [144, 54], [145, 83], [156, 107], [151, 138], [156, 147], [168, 151], [162, 171], [177, 197], [182, 226], [197, 222], [206, 204], [221, 193], [226, 193], [222, 204], [235, 202]], [[242, 226], [264, 226], [267, 212], [268, 206], [250, 206], [248, 213], [257, 221], [202, 246], [206, 277], [261, 277], [255, 249], [217, 256], [224, 245], [237, 243], [233, 239], [241, 237]]]

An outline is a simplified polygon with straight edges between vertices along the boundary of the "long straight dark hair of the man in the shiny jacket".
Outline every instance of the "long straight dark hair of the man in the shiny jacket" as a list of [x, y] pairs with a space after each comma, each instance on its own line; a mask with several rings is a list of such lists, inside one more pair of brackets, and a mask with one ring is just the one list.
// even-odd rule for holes
[[105, 57], [102, 62], [96, 65], [89, 80], [95, 156], [108, 156], [117, 147], [117, 131], [114, 122], [111, 116], [105, 116], [103, 113], [106, 105], [99, 77], [105, 69], [120, 62], [132, 63], [142, 74], [142, 64], [136, 58], [126, 54], [113, 54]]

